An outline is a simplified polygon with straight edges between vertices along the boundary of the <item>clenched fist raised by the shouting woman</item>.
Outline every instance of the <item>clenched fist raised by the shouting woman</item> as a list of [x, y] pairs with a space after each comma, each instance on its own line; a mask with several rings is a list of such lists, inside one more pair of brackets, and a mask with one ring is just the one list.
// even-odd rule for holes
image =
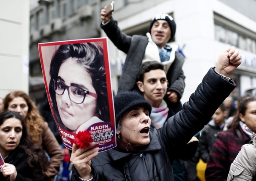
[[241, 55], [234, 47], [228, 48], [219, 55], [215, 71], [228, 77], [241, 64]]

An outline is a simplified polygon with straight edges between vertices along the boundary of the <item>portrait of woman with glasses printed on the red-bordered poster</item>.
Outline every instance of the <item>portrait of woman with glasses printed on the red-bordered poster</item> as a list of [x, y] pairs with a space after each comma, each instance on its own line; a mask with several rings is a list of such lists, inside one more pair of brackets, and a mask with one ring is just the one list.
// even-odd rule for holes
[[51, 59], [49, 92], [60, 128], [77, 133], [110, 122], [103, 50], [95, 43], [59, 46]]

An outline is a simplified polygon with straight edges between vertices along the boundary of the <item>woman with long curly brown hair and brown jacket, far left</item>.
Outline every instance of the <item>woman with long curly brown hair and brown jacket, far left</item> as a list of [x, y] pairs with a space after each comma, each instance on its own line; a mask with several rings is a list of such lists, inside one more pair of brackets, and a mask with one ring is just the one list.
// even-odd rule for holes
[[62, 163], [63, 154], [58, 141], [48, 127], [48, 123], [40, 115], [33, 100], [26, 92], [13, 91], [4, 98], [1, 110], [13, 110], [25, 120], [32, 141], [50, 157], [48, 168], [43, 172], [44, 180], [53, 181]]

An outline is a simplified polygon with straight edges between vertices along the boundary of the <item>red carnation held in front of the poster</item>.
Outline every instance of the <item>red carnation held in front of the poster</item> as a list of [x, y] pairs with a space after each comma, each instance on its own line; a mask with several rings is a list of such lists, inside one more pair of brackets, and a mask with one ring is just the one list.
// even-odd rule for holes
[[86, 148], [90, 142], [93, 142], [89, 131], [79, 131], [74, 143], [78, 148]]

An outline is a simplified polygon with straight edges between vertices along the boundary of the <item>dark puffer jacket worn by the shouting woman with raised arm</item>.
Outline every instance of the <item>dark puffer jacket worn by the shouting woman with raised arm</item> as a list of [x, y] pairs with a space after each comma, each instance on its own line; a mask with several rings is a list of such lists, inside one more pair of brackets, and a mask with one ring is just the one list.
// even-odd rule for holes
[[[174, 150], [186, 144], [208, 123], [212, 114], [235, 88], [213, 69], [205, 75], [183, 110], [170, 117], [160, 129], [150, 130], [150, 144], [136, 153], [114, 148], [91, 160], [93, 181], [173, 181]], [[72, 181], [80, 181], [73, 169]]]

